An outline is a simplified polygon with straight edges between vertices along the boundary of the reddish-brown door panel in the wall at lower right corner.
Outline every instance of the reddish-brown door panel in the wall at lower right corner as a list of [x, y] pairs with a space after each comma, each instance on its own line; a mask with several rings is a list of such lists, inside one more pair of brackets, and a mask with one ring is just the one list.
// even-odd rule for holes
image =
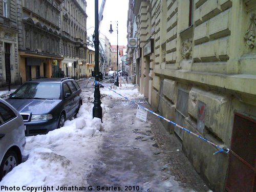
[[256, 191], [256, 120], [235, 113], [229, 153], [227, 191]]

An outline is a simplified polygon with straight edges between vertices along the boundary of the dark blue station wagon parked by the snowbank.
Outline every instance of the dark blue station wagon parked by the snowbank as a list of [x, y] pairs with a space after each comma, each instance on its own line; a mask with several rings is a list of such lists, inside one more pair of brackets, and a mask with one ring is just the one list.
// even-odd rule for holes
[[36, 78], [25, 82], [6, 101], [22, 115], [26, 135], [46, 134], [78, 113], [81, 92], [70, 77]]

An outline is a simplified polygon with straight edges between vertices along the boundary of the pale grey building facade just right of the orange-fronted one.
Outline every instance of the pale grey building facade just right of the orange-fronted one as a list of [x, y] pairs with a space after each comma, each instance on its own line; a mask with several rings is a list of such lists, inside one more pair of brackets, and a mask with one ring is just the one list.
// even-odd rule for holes
[[68, 0], [61, 4], [61, 70], [66, 77], [84, 76], [87, 63], [87, 3]]

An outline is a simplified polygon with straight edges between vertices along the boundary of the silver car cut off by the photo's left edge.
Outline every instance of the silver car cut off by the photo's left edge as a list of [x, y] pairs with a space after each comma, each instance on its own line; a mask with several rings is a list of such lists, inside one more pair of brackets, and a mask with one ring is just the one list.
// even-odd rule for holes
[[8, 102], [0, 99], [0, 181], [22, 162], [25, 144], [22, 116]]

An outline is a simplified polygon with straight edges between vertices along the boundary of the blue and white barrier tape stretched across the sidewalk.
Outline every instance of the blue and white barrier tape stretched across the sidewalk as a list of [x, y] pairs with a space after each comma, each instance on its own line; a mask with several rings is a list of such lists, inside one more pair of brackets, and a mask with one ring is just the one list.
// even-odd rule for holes
[[111, 91], [115, 92], [116, 94], [120, 95], [121, 97], [123, 97], [123, 98], [125, 98], [125, 99], [131, 101], [131, 102], [134, 103], [134, 104], [137, 104], [138, 106], [140, 106], [140, 107], [143, 108], [144, 110], [146, 110], [146, 111], [148, 111], [148, 112], [150, 112], [150, 113], [152, 113], [152, 114], [154, 114], [154, 115], [160, 117], [161, 119], [164, 119], [165, 121], [167, 121], [167, 122], [169, 122], [169, 123], [174, 124], [175, 126], [179, 127], [180, 129], [182, 129], [182, 130], [188, 132], [189, 134], [194, 135], [194, 136], [196, 136], [196, 137], [198, 137], [198, 138], [200, 138], [200, 139], [206, 141], [207, 143], [210, 143], [211, 145], [214, 145], [215, 147], [219, 148], [220, 150], [217, 151], [217, 152], [215, 152], [214, 155], [216, 155], [216, 154], [218, 154], [218, 153], [220, 153], [220, 152], [229, 153], [229, 148], [221, 147], [221, 146], [219, 146], [219, 145], [217, 145], [217, 144], [215, 144], [215, 143], [212, 143], [212, 142], [210, 142], [209, 140], [207, 140], [207, 139], [201, 137], [200, 135], [197, 135], [197, 134], [195, 134], [195, 133], [193, 133], [193, 132], [187, 130], [186, 128], [184, 128], [184, 127], [182, 127], [182, 126], [176, 124], [175, 122], [170, 121], [170, 120], [164, 118], [163, 116], [158, 115], [158, 114], [156, 114], [155, 112], [153, 112], [153, 111], [151, 111], [151, 110], [149, 110], [149, 109], [147, 109], [147, 108], [144, 108], [144, 106], [142, 106], [142, 105], [136, 103], [135, 101], [133, 101], [133, 100], [127, 98], [127, 97], [122, 96], [121, 94], [117, 93], [115, 90], [109, 88], [108, 86], [105, 86], [104, 84], [102, 84], [102, 83], [100, 83], [100, 82], [98, 82], [98, 83], [99, 83], [102, 87], [106, 87], [106, 88], [108, 88], [109, 90], [111, 90]]

